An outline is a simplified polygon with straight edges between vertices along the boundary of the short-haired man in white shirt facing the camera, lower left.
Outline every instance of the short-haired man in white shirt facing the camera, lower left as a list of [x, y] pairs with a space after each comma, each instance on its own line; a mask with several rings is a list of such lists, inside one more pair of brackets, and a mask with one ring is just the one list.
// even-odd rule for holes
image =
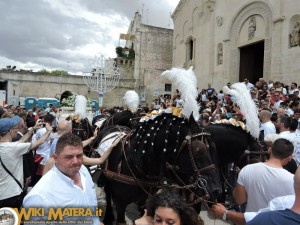
[[[94, 182], [83, 161], [83, 146], [74, 134], [62, 135], [56, 145], [55, 166], [32, 188], [23, 201], [24, 208], [90, 208], [93, 216], [64, 217], [64, 221], [89, 221], [99, 224], [96, 216], [97, 199]], [[47, 216], [47, 215], [44, 215]], [[31, 220], [47, 220], [31, 217]]]

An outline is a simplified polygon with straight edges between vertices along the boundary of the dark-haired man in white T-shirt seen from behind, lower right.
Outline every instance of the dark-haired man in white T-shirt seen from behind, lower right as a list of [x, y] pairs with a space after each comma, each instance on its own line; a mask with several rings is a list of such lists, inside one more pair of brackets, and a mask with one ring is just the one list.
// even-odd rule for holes
[[246, 212], [257, 212], [273, 198], [294, 194], [294, 175], [283, 169], [292, 160], [293, 144], [279, 138], [269, 151], [267, 162], [247, 165], [239, 173], [233, 196], [237, 204], [247, 203]]

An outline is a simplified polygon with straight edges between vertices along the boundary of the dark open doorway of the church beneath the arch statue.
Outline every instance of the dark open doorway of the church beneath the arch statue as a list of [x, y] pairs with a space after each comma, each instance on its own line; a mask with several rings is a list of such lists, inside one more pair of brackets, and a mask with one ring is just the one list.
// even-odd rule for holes
[[240, 82], [247, 78], [250, 83], [255, 84], [260, 77], [263, 77], [264, 49], [264, 41], [240, 47]]

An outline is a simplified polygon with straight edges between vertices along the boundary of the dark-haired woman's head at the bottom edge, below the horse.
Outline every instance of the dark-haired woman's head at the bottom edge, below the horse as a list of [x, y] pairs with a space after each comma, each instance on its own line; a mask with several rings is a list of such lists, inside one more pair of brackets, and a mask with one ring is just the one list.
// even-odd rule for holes
[[[153, 195], [146, 203], [147, 216], [134, 221], [135, 225], [203, 225], [194, 208], [175, 191], [165, 189]], [[153, 219], [153, 220], [152, 220]]]

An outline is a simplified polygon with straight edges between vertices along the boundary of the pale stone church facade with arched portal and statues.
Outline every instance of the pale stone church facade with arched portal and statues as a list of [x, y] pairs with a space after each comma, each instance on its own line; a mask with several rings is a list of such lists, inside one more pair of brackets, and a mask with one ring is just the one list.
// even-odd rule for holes
[[181, 0], [172, 19], [173, 66], [193, 66], [199, 88], [300, 83], [299, 0]]

